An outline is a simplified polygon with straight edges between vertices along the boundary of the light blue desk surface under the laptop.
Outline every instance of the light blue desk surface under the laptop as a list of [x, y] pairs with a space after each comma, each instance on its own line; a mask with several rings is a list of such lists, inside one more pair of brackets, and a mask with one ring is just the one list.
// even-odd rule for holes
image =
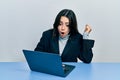
[[120, 80], [120, 63], [66, 63], [76, 68], [65, 78], [31, 71], [26, 62], [0, 62], [0, 80]]

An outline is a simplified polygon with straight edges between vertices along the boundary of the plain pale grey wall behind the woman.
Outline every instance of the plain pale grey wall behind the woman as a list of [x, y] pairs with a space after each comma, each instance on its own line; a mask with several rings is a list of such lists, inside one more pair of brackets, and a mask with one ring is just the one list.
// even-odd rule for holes
[[22, 50], [34, 50], [65, 8], [75, 12], [80, 33], [92, 26], [93, 62], [120, 62], [120, 0], [1, 0], [0, 61], [25, 61]]

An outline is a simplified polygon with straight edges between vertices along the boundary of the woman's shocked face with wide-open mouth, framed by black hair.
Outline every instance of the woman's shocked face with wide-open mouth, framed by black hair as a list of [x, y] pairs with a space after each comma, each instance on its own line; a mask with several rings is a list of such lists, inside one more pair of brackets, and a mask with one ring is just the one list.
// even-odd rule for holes
[[62, 16], [60, 18], [60, 23], [59, 23], [59, 26], [58, 26], [58, 32], [59, 32], [59, 35], [64, 38], [66, 35], [69, 34], [70, 32], [70, 29], [69, 29], [69, 19], [65, 16]]

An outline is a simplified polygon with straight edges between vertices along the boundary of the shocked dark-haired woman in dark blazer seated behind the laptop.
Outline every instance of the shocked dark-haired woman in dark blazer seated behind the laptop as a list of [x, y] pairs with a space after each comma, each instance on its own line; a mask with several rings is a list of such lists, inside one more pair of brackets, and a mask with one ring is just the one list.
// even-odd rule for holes
[[56, 17], [53, 29], [43, 32], [35, 51], [59, 54], [63, 62], [77, 62], [79, 58], [84, 63], [90, 63], [94, 45], [94, 40], [87, 39], [90, 32], [90, 26], [86, 25], [81, 35], [74, 12], [63, 9]]

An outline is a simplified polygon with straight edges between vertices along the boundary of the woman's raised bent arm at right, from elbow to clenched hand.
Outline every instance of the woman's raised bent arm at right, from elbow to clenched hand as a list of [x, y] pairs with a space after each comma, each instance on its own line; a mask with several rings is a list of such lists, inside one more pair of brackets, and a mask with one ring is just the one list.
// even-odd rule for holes
[[94, 46], [95, 41], [88, 39], [89, 33], [91, 32], [91, 30], [92, 29], [89, 25], [85, 26], [85, 30], [83, 33], [83, 40], [82, 40], [82, 49], [81, 49], [82, 53], [80, 55], [80, 59], [84, 63], [90, 63], [93, 58], [92, 48]]

